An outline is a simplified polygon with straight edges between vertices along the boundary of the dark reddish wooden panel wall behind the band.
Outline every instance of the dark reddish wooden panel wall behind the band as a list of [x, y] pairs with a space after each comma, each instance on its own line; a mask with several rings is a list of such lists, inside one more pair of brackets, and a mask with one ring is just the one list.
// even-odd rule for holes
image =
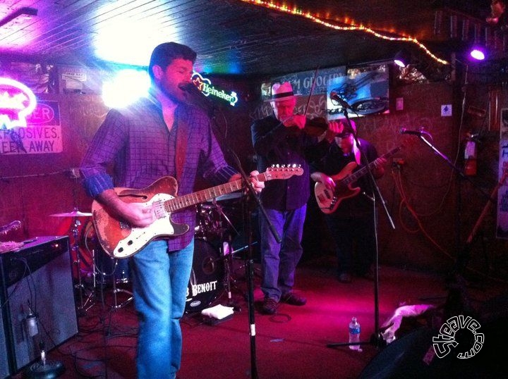
[[[214, 110], [217, 137], [224, 150], [231, 147], [240, 157], [243, 168], [250, 171], [255, 167], [250, 123], [267, 115], [270, 105], [259, 101], [256, 95], [257, 85], [253, 83], [224, 80], [220, 84], [224, 89], [238, 90], [241, 102], [235, 108], [220, 106]], [[401, 170], [394, 170], [392, 173], [392, 162], [389, 161], [385, 177], [379, 180], [387, 210], [395, 224], [394, 230], [390, 228], [387, 215], [380, 208], [379, 251], [383, 264], [446, 271], [457, 254], [456, 242], [465, 241], [468, 231], [483, 209], [485, 201], [468, 183], [460, 182], [459, 185], [452, 175], [452, 168], [443, 159], [434, 154], [418, 137], [403, 136], [398, 132], [402, 127], [416, 129], [423, 126], [433, 136], [435, 147], [454, 160], [463, 137], [458, 129], [460, 94], [460, 91], [457, 92], [447, 83], [395, 88], [392, 89], [391, 97], [404, 98], [404, 110], [392, 111], [389, 115], [368, 116], [356, 121], [361, 137], [373, 142], [380, 154], [404, 144], [404, 149], [397, 154], [397, 159], [404, 160]], [[478, 92], [477, 96], [473, 101], [478, 100], [478, 105], [484, 106], [488, 93]], [[23, 223], [21, 230], [1, 237], [2, 240], [70, 234], [71, 220], [49, 215], [72, 211], [74, 206], [80, 211], [90, 211], [91, 200], [83, 192], [79, 179], [72, 178], [69, 170], [79, 166], [107, 108], [96, 95], [40, 94], [39, 97], [59, 102], [63, 153], [0, 156], [0, 225], [11, 220], [21, 220]], [[298, 108], [303, 111], [306, 99], [300, 101]], [[442, 104], [452, 104], [454, 116], [440, 116]], [[314, 96], [310, 106], [310, 116], [320, 115], [325, 108], [324, 96]], [[469, 126], [473, 121], [468, 120]], [[492, 146], [492, 149], [495, 149], [495, 143]], [[484, 164], [494, 167], [495, 161], [492, 162], [492, 159], [495, 159], [496, 155], [492, 154], [491, 149], [488, 150], [483, 149], [482, 154], [487, 157]], [[231, 155], [226, 155], [230, 157], [229, 161], [234, 163]], [[479, 179], [484, 190], [489, 192], [493, 182], [492, 175]], [[395, 185], [397, 180], [403, 185], [404, 196]], [[461, 190], [461, 197], [457, 196], [458, 189]], [[461, 217], [456, 214], [458, 210], [462, 213]], [[411, 212], [417, 214], [418, 219], [412, 216]], [[81, 221], [86, 223], [87, 219]], [[492, 237], [494, 226], [490, 225], [490, 221], [492, 220], [488, 220], [483, 227], [488, 240], [487, 258], [492, 258], [494, 254], [499, 260], [496, 261], [497, 268], [506, 269], [508, 263], [500, 261], [502, 251], [506, 251], [506, 244]], [[461, 228], [459, 238], [456, 232], [458, 226]], [[322, 214], [315, 209], [312, 201], [304, 246], [307, 258], [332, 254], [332, 245], [322, 222]], [[473, 258], [479, 259], [480, 263], [484, 260], [484, 253], [478, 251], [478, 244]]]

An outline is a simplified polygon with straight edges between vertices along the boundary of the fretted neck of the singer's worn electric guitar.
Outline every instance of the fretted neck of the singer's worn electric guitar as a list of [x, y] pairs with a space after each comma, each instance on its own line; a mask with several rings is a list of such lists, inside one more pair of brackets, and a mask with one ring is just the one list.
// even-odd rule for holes
[[[256, 179], [260, 182], [265, 182], [268, 180], [267, 173], [256, 175]], [[210, 201], [214, 197], [219, 197], [223, 194], [230, 194], [231, 192], [241, 190], [242, 187], [242, 179], [234, 180], [233, 182], [227, 182], [223, 185], [216, 185], [215, 187], [193, 192], [192, 194], [185, 194], [183, 196], [174, 197], [173, 199], [164, 201], [164, 208], [169, 212], [179, 211], [180, 209], [187, 208], [188, 206]]]

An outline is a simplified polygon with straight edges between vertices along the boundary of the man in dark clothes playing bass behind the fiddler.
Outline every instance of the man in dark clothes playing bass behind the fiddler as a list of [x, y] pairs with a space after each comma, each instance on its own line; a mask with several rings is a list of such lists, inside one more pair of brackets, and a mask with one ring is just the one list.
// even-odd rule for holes
[[[351, 121], [356, 131], [356, 125]], [[358, 139], [356, 145], [348, 126], [341, 123], [334, 143], [330, 144], [327, 154], [313, 163], [310, 175], [315, 182], [325, 186], [327, 193], [334, 194], [337, 180], [344, 179], [352, 168], [361, 168], [365, 156], [370, 163], [374, 178], [380, 178], [385, 169], [386, 159], [378, 159], [375, 147], [365, 139]], [[334, 180], [335, 179], [335, 180]], [[325, 220], [337, 244], [338, 271], [340, 282], [351, 282], [351, 275], [370, 277], [370, 266], [375, 251], [373, 191], [370, 186], [370, 175], [362, 175], [357, 182], [342, 189], [343, 196], [337, 199], [331, 211], [325, 211]], [[317, 199], [318, 203], [320, 199]], [[325, 199], [323, 199], [325, 202]], [[334, 210], [333, 210], [334, 209]], [[356, 242], [356, 260], [353, 260], [353, 247]]]

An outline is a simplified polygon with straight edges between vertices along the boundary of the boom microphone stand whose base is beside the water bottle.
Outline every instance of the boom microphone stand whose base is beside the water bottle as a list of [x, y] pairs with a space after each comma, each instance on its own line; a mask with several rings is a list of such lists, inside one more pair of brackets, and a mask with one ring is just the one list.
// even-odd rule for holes
[[[342, 105], [342, 103], [341, 103]], [[344, 104], [342, 105], [342, 108], [344, 108], [344, 117], [346, 118], [346, 121], [349, 125], [349, 130], [351, 130], [351, 134], [354, 137], [354, 140], [356, 142], [356, 146], [358, 149], [360, 149], [360, 142], [358, 141], [358, 136], [356, 135], [355, 130], [353, 129], [351, 125], [351, 120], [349, 120], [349, 116], [347, 113], [347, 108], [351, 108], [349, 104], [344, 101]], [[395, 225], [392, 220], [392, 216], [390, 216], [389, 211], [387, 209], [385, 199], [383, 199], [381, 191], [379, 187], [377, 186], [377, 183], [375, 181], [374, 175], [372, 173], [372, 170], [370, 170], [369, 161], [367, 159], [367, 156], [365, 154], [360, 154], [361, 161], [363, 165], [367, 167], [368, 170], [368, 177], [370, 178], [370, 187], [371, 190], [373, 190], [373, 225], [374, 225], [374, 242], [375, 242], [375, 255], [374, 255], [374, 334], [370, 337], [370, 340], [363, 341], [363, 342], [332, 342], [327, 344], [327, 347], [337, 347], [337, 346], [351, 346], [351, 345], [360, 345], [360, 344], [372, 344], [376, 348], [379, 347], [385, 347], [386, 341], [383, 339], [382, 334], [380, 332], [380, 322], [379, 322], [379, 247], [377, 243], [377, 209], [376, 209], [376, 196], [379, 197], [381, 200], [381, 204], [383, 206], [383, 209], [385, 209], [385, 214], [387, 216], [387, 219], [392, 226], [392, 229], [395, 229]]]

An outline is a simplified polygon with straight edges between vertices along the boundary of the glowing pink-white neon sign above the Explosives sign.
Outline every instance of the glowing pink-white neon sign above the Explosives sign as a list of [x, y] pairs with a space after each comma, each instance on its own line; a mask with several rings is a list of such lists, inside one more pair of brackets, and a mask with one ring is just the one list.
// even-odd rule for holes
[[26, 128], [26, 118], [37, 106], [30, 88], [17, 80], [0, 77], [0, 129]]

